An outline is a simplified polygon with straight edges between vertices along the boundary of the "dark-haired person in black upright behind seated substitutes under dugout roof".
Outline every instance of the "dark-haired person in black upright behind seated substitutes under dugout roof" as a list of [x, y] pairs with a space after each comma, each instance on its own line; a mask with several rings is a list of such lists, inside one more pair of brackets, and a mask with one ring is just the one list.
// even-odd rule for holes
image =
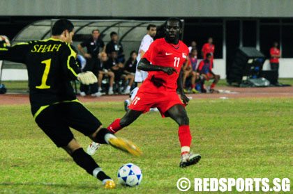
[[116, 32], [110, 33], [111, 41], [106, 46], [106, 53], [110, 57], [112, 51], [116, 51], [119, 62], [124, 63], [124, 51], [121, 43], [118, 43], [118, 35]]

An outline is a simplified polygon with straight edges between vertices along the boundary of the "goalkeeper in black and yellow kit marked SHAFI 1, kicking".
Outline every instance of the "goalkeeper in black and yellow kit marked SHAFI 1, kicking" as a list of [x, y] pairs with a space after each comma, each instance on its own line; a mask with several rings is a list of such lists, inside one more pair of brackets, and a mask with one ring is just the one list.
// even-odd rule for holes
[[74, 26], [67, 19], [59, 19], [52, 27], [52, 38], [24, 42], [0, 49], [0, 60], [25, 63], [29, 74], [29, 99], [33, 118], [49, 138], [73, 157], [77, 165], [87, 170], [105, 188], [114, 188], [114, 181], [82, 149], [69, 127], [89, 136], [96, 143], [140, 155], [140, 150], [102, 128], [100, 121], [76, 98], [70, 80], [83, 84], [96, 83], [92, 72], [80, 73], [76, 53], [70, 47]]

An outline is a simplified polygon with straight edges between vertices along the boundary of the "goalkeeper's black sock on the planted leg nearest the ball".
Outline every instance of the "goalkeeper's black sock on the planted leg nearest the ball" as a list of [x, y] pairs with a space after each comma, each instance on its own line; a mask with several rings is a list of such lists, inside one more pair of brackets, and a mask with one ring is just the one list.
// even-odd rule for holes
[[76, 149], [75, 152], [73, 152], [72, 157], [77, 165], [84, 170], [87, 170], [90, 175], [93, 175], [93, 177], [98, 178], [100, 181], [111, 179], [105, 174], [105, 172], [103, 172], [93, 158], [84, 152], [84, 149]]

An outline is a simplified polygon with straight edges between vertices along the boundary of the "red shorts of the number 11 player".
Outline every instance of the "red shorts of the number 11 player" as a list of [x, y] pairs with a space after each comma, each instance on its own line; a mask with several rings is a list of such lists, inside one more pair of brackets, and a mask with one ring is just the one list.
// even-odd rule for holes
[[[140, 89], [141, 88], [142, 86]], [[183, 106], [186, 106], [181, 102], [181, 99], [176, 93], [176, 90], [170, 91], [162, 86], [160, 88], [153, 88], [153, 90], [151, 90], [156, 91], [156, 93], [150, 93], [140, 89], [137, 91], [137, 95], [129, 106], [131, 110], [144, 111], [144, 113], [147, 113], [149, 108], [156, 107], [160, 111], [162, 117], [165, 118], [167, 117], [165, 114], [166, 111], [168, 111], [172, 106], [176, 104], [182, 104]]]

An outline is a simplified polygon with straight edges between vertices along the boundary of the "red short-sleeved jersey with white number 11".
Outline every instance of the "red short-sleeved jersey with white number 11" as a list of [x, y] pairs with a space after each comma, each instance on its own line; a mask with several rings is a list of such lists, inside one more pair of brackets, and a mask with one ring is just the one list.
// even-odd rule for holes
[[140, 86], [140, 90], [156, 92], [150, 91], [149, 87], [144, 86], [147, 85], [149, 81], [160, 81], [165, 88], [176, 90], [177, 79], [181, 66], [185, 63], [188, 52], [188, 47], [181, 40], [179, 40], [177, 45], [172, 45], [166, 42], [165, 38], [159, 38], [153, 41], [149, 47], [149, 50], [147, 50], [142, 58], [149, 60], [152, 65], [173, 67], [178, 74], [174, 72], [173, 74], [168, 75], [162, 71], [149, 72], [147, 79], [144, 81], [142, 86]]

